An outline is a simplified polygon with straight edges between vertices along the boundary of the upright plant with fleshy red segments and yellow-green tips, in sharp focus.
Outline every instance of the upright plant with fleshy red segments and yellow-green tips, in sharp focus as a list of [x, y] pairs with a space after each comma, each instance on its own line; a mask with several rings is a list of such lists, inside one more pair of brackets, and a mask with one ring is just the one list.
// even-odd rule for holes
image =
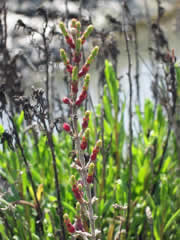
[[[74, 143], [76, 157], [72, 166], [78, 170], [79, 179], [71, 176], [72, 191], [77, 200], [77, 214], [75, 223], [72, 224], [68, 214], [64, 214], [64, 222], [68, 232], [73, 234], [74, 237], [81, 236], [83, 239], [97, 239], [99, 231], [95, 227], [96, 216], [93, 211], [93, 203], [96, 197], [91, 195], [91, 187], [94, 181], [96, 157], [102, 145], [101, 140], [95, 143], [93, 151], [86, 161], [84, 154], [88, 145], [88, 138], [90, 130], [88, 128], [88, 121], [90, 112], [86, 111], [82, 120], [81, 128], [78, 127], [78, 109], [83, 101], [87, 98], [88, 86], [90, 81], [90, 74], [88, 74], [90, 64], [98, 54], [98, 47], [95, 47], [84, 64], [81, 64], [82, 46], [90, 33], [93, 26], [89, 25], [85, 32], [81, 33], [81, 23], [72, 19], [70, 30], [67, 30], [64, 23], [60, 22], [60, 29], [69, 45], [72, 53], [72, 60], [70, 61], [64, 49], [60, 49], [60, 55], [66, 66], [66, 70], [71, 75], [70, 81], [70, 96], [64, 97], [63, 102], [67, 104], [71, 112], [70, 123], [64, 123], [64, 130], [69, 133]], [[82, 80], [83, 79], [83, 80]], [[80, 81], [83, 81], [82, 89]], [[87, 227], [87, 223], [89, 226]]]

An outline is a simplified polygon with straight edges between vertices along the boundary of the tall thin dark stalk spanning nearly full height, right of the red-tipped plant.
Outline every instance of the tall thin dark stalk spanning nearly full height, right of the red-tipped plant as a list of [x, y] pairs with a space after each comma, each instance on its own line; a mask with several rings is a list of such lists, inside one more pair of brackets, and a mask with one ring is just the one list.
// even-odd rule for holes
[[[124, 3], [125, 5], [125, 3]], [[126, 5], [125, 5], [126, 6]], [[126, 11], [126, 9], [125, 9]], [[124, 14], [124, 12], [123, 12]], [[123, 15], [125, 18], [125, 16]], [[132, 143], [133, 143], [133, 129], [132, 129], [132, 63], [131, 63], [131, 54], [129, 49], [128, 35], [126, 29], [124, 28], [124, 39], [126, 44], [126, 51], [128, 57], [128, 82], [129, 82], [129, 178], [128, 178], [128, 209], [127, 209], [127, 218], [126, 218], [126, 239], [129, 236], [129, 228], [130, 228], [130, 212], [131, 212], [131, 188], [132, 188], [132, 172], [133, 172], [133, 156], [132, 156]]]

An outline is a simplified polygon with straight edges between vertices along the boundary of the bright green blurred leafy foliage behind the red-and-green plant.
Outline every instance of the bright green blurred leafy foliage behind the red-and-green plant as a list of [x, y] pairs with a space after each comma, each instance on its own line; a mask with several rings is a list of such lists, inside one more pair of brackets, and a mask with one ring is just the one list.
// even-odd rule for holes
[[[180, 74], [179, 70], [177, 74]], [[180, 75], [179, 75], [180, 76]], [[90, 153], [92, 143], [97, 134], [102, 135], [102, 154], [97, 158], [97, 225], [102, 232], [102, 239], [114, 239], [119, 227], [125, 229], [125, 210], [113, 207], [117, 203], [127, 204], [128, 193], [128, 132], [125, 131], [124, 114], [126, 103], [121, 100], [118, 80], [112, 65], [105, 62], [106, 85], [101, 105], [96, 108], [96, 116], [89, 120]], [[180, 77], [179, 77], [180, 79]], [[102, 116], [102, 109], [104, 115]], [[176, 240], [180, 238], [178, 208], [178, 180], [176, 177], [177, 154], [174, 135], [170, 136], [162, 168], [159, 164], [162, 157], [167, 136], [167, 119], [159, 105], [154, 114], [154, 104], [147, 100], [143, 112], [136, 107], [136, 120], [139, 123], [139, 132], [134, 136], [133, 176], [132, 176], [132, 210], [130, 239], [160, 239]], [[103, 119], [103, 121], [102, 121]], [[27, 158], [33, 180], [38, 189], [38, 198], [44, 212], [45, 240], [58, 239], [56, 232], [59, 229], [56, 214], [57, 199], [55, 193], [52, 156], [48, 147], [47, 137], [39, 133], [36, 138], [32, 130], [23, 131], [23, 112], [15, 117], [16, 127], [22, 142], [25, 157]], [[103, 125], [102, 125], [103, 124]], [[104, 132], [102, 132], [102, 128]], [[0, 136], [4, 129], [0, 126]], [[62, 202], [65, 212], [70, 219], [74, 219], [75, 199], [70, 185], [70, 176], [76, 174], [71, 168], [72, 150], [71, 139], [67, 134], [53, 136], [55, 154], [57, 158], [58, 177]], [[104, 152], [103, 152], [104, 151]], [[36, 233], [37, 213], [30, 205], [13, 203], [24, 200], [34, 204], [35, 199], [26, 167], [18, 147], [12, 150], [7, 143], [0, 149], [0, 175], [8, 183], [10, 190], [0, 195], [0, 239], [40, 239]], [[41, 185], [42, 184], [42, 185]], [[153, 192], [153, 187], [155, 191]], [[7, 189], [4, 189], [6, 191]], [[146, 207], [150, 207], [152, 219], [145, 214]], [[1, 211], [7, 208], [6, 211]], [[8, 222], [9, 227], [5, 224]], [[23, 224], [22, 224], [23, 223]], [[111, 227], [110, 227], [111, 226]], [[110, 237], [111, 236], [111, 237]]]

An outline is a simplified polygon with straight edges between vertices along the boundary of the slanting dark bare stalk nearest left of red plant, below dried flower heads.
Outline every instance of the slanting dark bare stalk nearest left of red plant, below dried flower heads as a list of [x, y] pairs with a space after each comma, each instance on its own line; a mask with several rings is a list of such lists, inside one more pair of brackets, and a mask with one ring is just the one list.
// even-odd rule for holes
[[52, 155], [52, 160], [53, 160], [53, 169], [54, 169], [54, 178], [55, 178], [55, 185], [56, 185], [56, 195], [57, 195], [57, 200], [58, 200], [58, 216], [60, 220], [60, 225], [61, 225], [61, 230], [62, 234], [60, 234], [59, 239], [60, 240], [65, 240], [66, 239], [66, 234], [65, 234], [65, 228], [64, 228], [64, 221], [63, 221], [63, 206], [62, 206], [62, 200], [61, 200], [61, 192], [60, 192], [60, 186], [59, 186], [59, 181], [58, 181], [58, 171], [57, 171], [57, 164], [56, 164], [56, 156], [55, 156], [55, 151], [54, 151], [54, 143], [53, 143], [53, 137], [52, 137], [52, 132], [48, 131], [46, 122], [44, 119], [42, 119], [46, 135], [48, 138], [48, 144], [50, 147], [51, 155]]

